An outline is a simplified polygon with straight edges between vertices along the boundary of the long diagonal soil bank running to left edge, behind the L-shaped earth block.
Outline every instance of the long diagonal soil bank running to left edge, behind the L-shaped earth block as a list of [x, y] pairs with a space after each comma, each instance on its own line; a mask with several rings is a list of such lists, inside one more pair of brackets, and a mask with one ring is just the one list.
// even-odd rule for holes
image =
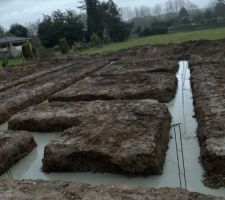
[[83, 61], [60, 71], [42, 76], [25, 84], [0, 93], [0, 123], [7, 121], [13, 114], [30, 105], [40, 103], [86, 75], [105, 66], [106, 60]]

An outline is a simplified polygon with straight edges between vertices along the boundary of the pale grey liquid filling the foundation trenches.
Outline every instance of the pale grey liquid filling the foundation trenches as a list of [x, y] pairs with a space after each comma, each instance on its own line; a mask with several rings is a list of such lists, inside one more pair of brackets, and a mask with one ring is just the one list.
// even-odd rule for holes
[[[214, 196], [225, 196], [225, 189], [210, 189], [203, 185], [201, 179], [203, 176], [203, 168], [199, 161], [200, 148], [196, 137], [197, 121], [194, 118], [194, 107], [192, 99], [192, 91], [190, 86], [190, 70], [188, 62], [182, 61], [179, 63], [180, 68], [177, 73], [178, 90], [175, 99], [166, 104], [173, 117], [172, 124], [181, 123], [181, 132], [183, 140], [184, 160], [187, 189], [194, 192], [210, 194]], [[0, 130], [6, 130], [7, 124], [0, 126]], [[177, 127], [177, 133], [179, 129]], [[44, 147], [59, 133], [33, 133], [34, 139], [38, 144], [37, 148], [32, 151], [27, 157], [14, 165], [10, 172], [13, 179], [43, 179], [43, 180], [62, 180], [75, 181], [89, 184], [126, 184], [133, 186], [145, 187], [180, 187], [180, 179], [178, 174], [177, 154], [174, 137], [174, 129], [170, 131], [171, 140], [167, 152], [166, 162], [163, 175], [150, 177], [135, 177], [128, 178], [122, 175], [115, 174], [100, 174], [100, 173], [50, 173], [46, 174], [41, 171], [42, 157]], [[179, 135], [179, 134], [178, 134]], [[180, 147], [179, 137], [177, 139]], [[180, 148], [179, 148], [180, 150]], [[179, 160], [182, 167], [182, 154], [178, 151]], [[184, 171], [181, 172], [182, 174]], [[7, 178], [5, 173], [1, 178]], [[185, 180], [181, 175], [182, 187], [185, 187]]]

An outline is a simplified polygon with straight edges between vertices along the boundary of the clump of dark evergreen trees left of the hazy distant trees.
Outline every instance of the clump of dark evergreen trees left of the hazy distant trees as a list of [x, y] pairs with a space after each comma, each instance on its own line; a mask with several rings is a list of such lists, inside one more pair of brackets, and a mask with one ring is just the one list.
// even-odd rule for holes
[[72, 46], [75, 42], [117, 42], [129, 37], [132, 24], [122, 20], [119, 8], [112, 0], [82, 0], [79, 3], [80, 14], [74, 10], [56, 10], [52, 15], [44, 15], [37, 26], [13, 24], [7, 32], [0, 26], [0, 36], [12, 34], [27, 37], [34, 34], [32, 29], [36, 29], [46, 48], [58, 45], [61, 39]]

